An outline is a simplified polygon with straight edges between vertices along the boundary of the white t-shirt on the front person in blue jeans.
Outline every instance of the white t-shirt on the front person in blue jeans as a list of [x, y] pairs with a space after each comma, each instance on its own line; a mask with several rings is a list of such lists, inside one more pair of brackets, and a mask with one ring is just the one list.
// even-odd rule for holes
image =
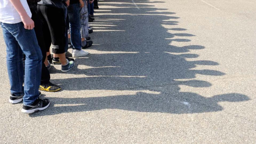
[[[19, 0], [17, 0], [19, 1]], [[22, 6], [26, 10], [27, 14], [31, 18], [32, 14], [29, 9], [29, 5], [26, 0], [20, 0]], [[10, 0], [0, 0], [0, 22], [2, 23], [19, 23], [21, 22], [21, 17], [14, 6], [11, 4]]]

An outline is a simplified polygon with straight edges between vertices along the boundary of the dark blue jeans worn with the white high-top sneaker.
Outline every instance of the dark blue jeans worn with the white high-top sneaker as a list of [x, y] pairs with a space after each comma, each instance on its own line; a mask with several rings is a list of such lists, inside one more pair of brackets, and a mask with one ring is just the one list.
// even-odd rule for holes
[[67, 7], [70, 23], [70, 40], [71, 45], [76, 50], [81, 50], [81, 23], [80, 23], [80, 3], [74, 3]]

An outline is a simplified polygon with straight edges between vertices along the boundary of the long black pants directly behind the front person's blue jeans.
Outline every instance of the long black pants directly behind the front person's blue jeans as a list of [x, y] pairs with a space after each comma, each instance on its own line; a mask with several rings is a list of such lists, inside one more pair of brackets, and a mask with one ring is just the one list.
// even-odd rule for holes
[[[46, 52], [49, 51], [49, 47], [45, 46], [44, 38], [43, 38], [43, 30], [41, 20], [39, 19], [36, 3], [34, 5], [30, 5], [30, 11], [32, 13], [31, 19], [35, 23], [35, 35], [37, 36], [38, 45], [41, 48], [43, 59], [42, 59], [42, 75], [41, 75], [41, 84], [49, 83], [50, 81], [50, 72], [46, 68], [45, 64], [43, 63], [46, 58]], [[48, 49], [48, 50], [47, 50]]]

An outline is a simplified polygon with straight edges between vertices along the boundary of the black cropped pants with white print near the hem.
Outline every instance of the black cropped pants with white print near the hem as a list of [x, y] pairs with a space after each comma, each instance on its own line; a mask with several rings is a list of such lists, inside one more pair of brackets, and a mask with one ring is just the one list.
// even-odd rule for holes
[[37, 5], [37, 10], [42, 17], [42, 28], [46, 47], [53, 44], [54, 54], [63, 54], [66, 47], [66, 22], [64, 9]]

